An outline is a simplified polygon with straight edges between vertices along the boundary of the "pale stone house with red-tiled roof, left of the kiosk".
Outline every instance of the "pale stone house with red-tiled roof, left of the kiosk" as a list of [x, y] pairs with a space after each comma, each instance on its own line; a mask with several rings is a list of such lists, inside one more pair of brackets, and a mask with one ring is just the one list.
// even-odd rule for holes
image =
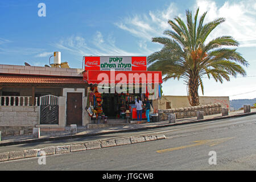
[[[18, 135], [32, 127], [63, 131], [89, 123], [83, 69], [0, 65], [0, 130]], [[6, 132], [5, 132], [6, 131]]]

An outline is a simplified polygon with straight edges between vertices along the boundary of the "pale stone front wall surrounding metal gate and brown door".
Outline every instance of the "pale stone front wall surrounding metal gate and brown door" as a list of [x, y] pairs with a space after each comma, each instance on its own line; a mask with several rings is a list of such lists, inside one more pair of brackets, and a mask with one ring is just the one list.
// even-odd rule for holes
[[[86, 89], [64, 88], [64, 96], [59, 97], [59, 125], [40, 125], [40, 106], [0, 106], [0, 130], [2, 135], [8, 135], [22, 130], [20, 127], [29, 129], [32, 133], [32, 127], [65, 127], [67, 126], [67, 93], [82, 93], [82, 126], [89, 123], [89, 115], [85, 111], [87, 102]], [[7, 131], [8, 130], [8, 131]], [[11, 130], [11, 132], [9, 132]], [[6, 132], [5, 132], [6, 131]]]

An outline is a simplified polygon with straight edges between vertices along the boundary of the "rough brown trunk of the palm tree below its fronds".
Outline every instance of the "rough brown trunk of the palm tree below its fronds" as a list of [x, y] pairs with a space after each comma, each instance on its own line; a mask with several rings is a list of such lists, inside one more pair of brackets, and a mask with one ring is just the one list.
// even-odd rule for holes
[[197, 77], [191, 77], [188, 81], [188, 100], [191, 106], [198, 106], [199, 102], [199, 79]]

